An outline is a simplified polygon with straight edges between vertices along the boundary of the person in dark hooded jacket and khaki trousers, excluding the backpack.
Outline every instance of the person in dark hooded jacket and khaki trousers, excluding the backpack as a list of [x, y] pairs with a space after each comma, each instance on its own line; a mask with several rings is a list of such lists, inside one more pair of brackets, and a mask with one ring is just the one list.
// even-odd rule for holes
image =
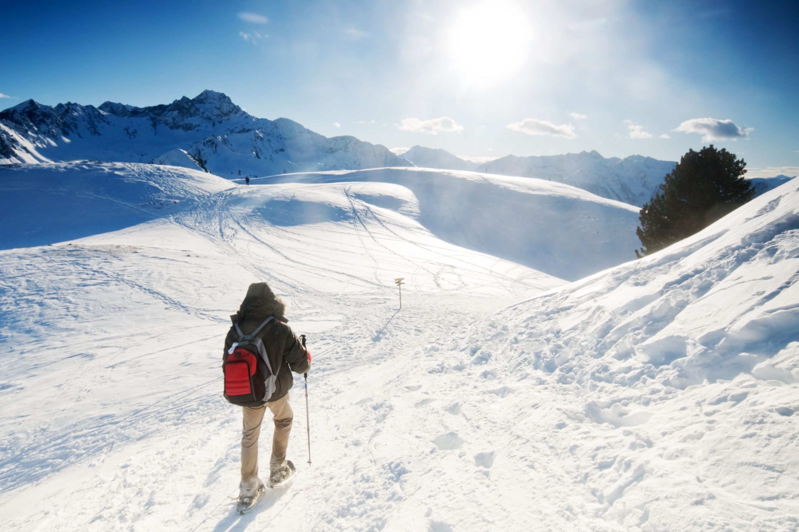
[[[241, 433], [241, 483], [240, 506], [251, 506], [264, 491], [264, 483], [258, 478], [258, 436], [264, 412], [272, 412], [275, 432], [272, 438], [272, 458], [269, 460], [269, 486], [283, 483], [293, 475], [291, 463], [286, 461], [288, 434], [292, 430], [293, 412], [288, 404], [288, 390], [294, 384], [292, 371], [308, 372], [311, 367], [311, 353], [305, 349], [300, 338], [286, 325], [286, 305], [265, 282], [254, 282], [248, 290], [239, 311], [230, 319], [233, 321], [225, 338], [225, 353], [229, 353], [240, 334], [256, 332], [259, 326], [268, 321], [256, 333], [263, 342], [269, 365], [274, 368], [274, 391], [266, 403], [256, 401], [244, 406], [244, 424]], [[272, 320], [269, 318], [272, 317]], [[238, 329], [240, 331], [237, 331]], [[261, 403], [261, 404], [259, 404]]]

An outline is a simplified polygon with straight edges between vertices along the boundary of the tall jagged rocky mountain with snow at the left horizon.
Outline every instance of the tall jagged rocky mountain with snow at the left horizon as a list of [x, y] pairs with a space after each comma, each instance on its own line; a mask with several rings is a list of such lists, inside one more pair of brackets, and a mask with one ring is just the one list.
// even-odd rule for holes
[[209, 90], [145, 108], [27, 100], [0, 112], [0, 164], [70, 160], [197, 164], [228, 178], [409, 164], [380, 144], [256, 118]]

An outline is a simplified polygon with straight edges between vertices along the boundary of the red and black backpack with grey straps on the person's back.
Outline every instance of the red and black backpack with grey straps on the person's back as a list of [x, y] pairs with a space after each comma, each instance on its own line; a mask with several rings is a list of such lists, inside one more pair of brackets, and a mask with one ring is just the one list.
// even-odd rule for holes
[[[272, 371], [269, 357], [261, 340], [263, 333], [275, 326], [277, 320], [270, 316], [258, 325], [252, 334], [244, 334], [239, 324], [233, 325], [239, 334], [222, 359], [222, 372], [225, 373], [225, 399], [232, 404], [245, 407], [259, 407], [267, 402], [275, 392], [277, 368]], [[264, 329], [264, 325], [269, 325]], [[261, 333], [261, 334], [259, 334]]]

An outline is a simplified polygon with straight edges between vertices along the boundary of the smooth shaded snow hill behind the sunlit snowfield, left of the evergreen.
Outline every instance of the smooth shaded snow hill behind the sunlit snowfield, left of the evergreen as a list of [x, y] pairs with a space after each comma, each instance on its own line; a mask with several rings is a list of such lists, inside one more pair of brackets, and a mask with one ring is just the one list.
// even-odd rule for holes
[[396, 183], [447, 242], [575, 279], [634, 258], [638, 208], [541, 179], [429, 168], [277, 175], [252, 183]]

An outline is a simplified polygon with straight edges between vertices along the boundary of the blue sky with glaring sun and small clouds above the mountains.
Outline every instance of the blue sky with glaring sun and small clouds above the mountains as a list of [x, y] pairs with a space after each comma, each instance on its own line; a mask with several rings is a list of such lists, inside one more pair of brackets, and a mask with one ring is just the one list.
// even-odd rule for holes
[[712, 142], [799, 167], [794, 5], [18, 2], [0, 7], [0, 107], [214, 89], [388, 148], [677, 160]]

